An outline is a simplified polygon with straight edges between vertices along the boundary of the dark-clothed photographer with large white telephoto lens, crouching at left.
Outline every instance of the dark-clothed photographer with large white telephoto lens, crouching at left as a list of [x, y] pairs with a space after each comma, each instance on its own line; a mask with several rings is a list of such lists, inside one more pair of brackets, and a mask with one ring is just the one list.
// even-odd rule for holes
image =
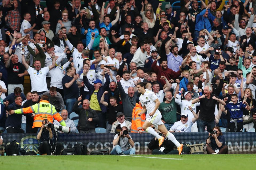
[[61, 150], [64, 148], [61, 142], [57, 142], [57, 134], [54, 129], [48, 128], [45, 124], [49, 121], [44, 119], [42, 121], [42, 126], [38, 128], [37, 139], [39, 140], [38, 151], [46, 153], [47, 155], [52, 155], [55, 151], [55, 155], [60, 155]]

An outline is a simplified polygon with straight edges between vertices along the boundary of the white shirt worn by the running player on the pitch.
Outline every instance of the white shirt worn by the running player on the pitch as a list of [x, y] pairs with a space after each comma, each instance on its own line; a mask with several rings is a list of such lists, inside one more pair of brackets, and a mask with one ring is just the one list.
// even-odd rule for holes
[[[155, 109], [155, 100], [157, 99], [157, 96], [155, 95], [154, 92], [146, 90], [146, 92], [141, 94], [139, 96], [139, 101], [141, 102], [141, 106], [145, 106], [148, 113], [151, 113]], [[161, 114], [160, 111], [157, 109], [155, 111], [156, 114]]]

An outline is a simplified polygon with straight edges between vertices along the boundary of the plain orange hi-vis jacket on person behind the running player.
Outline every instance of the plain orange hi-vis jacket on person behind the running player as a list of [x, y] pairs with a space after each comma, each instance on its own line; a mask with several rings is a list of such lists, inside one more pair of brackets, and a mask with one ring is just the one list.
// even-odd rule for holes
[[145, 113], [143, 113], [141, 116], [138, 115], [142, 111], [142, 107], [136, 103], [135, 107], [133, 108], [133, 117], [131, 119], [131, 132], [139, 132], [139, 130], [142, 130], [142, 125], [145, 123], [146, 116]]

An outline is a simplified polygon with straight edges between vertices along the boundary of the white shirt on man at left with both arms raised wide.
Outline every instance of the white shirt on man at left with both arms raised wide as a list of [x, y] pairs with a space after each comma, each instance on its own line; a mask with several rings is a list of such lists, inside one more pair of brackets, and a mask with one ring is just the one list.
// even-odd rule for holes
[[[35, 70], [30, 67], [27, 69], [31, 80], [31, 91], [48, 91], [46, 84], [46, 74], [50, 71], [49, 66], [43, 67], [40, 70]], [[37, 74], [38, 73], [38, 74]]]

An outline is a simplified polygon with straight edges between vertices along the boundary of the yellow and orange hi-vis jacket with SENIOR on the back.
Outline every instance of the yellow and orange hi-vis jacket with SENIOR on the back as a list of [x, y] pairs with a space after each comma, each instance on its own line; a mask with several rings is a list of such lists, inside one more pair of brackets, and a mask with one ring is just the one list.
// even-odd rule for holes
[[15, 110], [16, 114], [35, 113], [33, 127], [41, 127], [43, 119], [47, 119], [53, 123], [53, 118], [57, 120], [61, 126], [66, 126], [65, 121], [55, 110], [55, 107], [50, 104], [47, 100], [41, 100], [39, 103], [34, 104], [30, 107]]

